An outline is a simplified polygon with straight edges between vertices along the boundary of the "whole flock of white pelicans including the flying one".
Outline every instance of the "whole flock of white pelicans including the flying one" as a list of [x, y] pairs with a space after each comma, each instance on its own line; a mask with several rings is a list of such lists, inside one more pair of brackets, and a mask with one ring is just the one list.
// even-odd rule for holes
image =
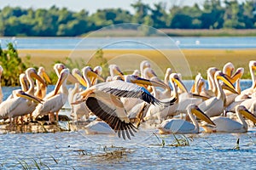
[[[131, 75], [125, 75], [118, 65], [109, 65], [106, 80], [100, 66], [69, 71], [65, 65], [55, 64], [54, 70], [58, 81], [48, 94], [50, 80], [44, 67], [20, 74], [21, 89], [4, 101], [0, 86], [0, 120], [13, 124], [19, 117], [21, 122], [35, 122], [49, 116], [49, 122], [58, 122], [59, 111], [68, 102], [73, 121], [91, 121], [87, 132], [115, 132], [123, 139], [131, 139], [142, 123], [157, 127], [160, 133], [200, 133], [201, 129], [244, 133], [256, 123], [256, 60], [249, 62], [252, 86], [245, 90], [240, 86], [244, 69], [235, 71], [230, 62], [222, 71], [210, 67], [207, 80], [199, 73], [190, 90], [182, 75], [170, 68], [161, 80], [147, 60]], [[0, 65], [0, 80], [2, 74]], [[73, 88], [68, 89], [67, 82]]]

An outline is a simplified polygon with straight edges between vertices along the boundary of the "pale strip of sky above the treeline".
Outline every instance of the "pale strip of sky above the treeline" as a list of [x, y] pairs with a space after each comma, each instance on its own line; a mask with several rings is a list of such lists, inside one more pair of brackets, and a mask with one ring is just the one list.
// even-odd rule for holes
[[[154, 3], [165, 2], [167, 8], [175, 5], [191, 5], [194, 3], [202, 4], [205, 0], [142, 0], [143, 3], [153, 6]], [[244, 0], [238, 0], [239, 2]], [[11, 6], [21, 8], [50, 8], [55, 5], [56, 7], [66, 7], [73, 11], [80, 11], [86, 9], [90, 14], [95, 13], [97, 9], [102, 8], [124, 8], [134, 12], [131, 3], [136, 3], [137, 0], [0, 0], [0, 8]]]

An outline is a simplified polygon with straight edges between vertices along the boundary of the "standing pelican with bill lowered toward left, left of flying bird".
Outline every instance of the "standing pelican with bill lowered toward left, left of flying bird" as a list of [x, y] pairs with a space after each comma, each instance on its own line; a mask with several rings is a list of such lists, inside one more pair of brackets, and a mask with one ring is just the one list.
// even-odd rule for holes
[[32, 112], [33, 118], [49, 114], [49, 122], [53, 122], [53, 117], [51, 116], [56, 113], [56, 121], [59, 120], [58, 113], [61, 110], [62, 106], [65, 105], [67, 102], [67, 77], [69, 77], [69, 75], [70, 72], [68, 69], [63, 69], [61, 71], [58, 82], [55, 85], [53, 95], [51, 97], [48, 97], [47, 99], [44, 98], [44, 102], [37, 106], [36, 110]]

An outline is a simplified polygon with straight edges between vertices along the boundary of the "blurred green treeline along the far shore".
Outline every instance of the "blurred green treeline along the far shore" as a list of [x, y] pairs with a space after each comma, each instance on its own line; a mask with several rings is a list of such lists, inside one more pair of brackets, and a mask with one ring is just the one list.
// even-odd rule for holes
[[256, 10], [253, 0], [206, 0], [199, 5], [172, 6], [141, 1], [132, 3], [135, 13], [122, 8], [99, 9], [89, 14], [86, 9], [73, 12], [67, 8], [11, 8], [0, 10], [0, 36], [81, 36], [104, 26], [137, 23], [157, 29], [253, 29]]

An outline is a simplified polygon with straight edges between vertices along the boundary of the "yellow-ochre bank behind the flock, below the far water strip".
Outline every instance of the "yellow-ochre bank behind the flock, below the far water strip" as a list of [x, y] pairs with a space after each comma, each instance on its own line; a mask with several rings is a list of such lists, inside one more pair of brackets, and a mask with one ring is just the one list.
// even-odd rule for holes
[[[55, 62], [67, 63], [72, 59], [81, 65], [94, 65], [96, 51], [92, 50], [52, 50], [52, 49], [19, 49], [21, 59], [31, 56], [32, 65], [44, 66], [46, 71], [53, 71]], [[125, 73], [131, 69], [139, 69], [139, 63], [149, 59], [153, 63], [156, 73], [163, 77], [166, 68], [171, 67], [176, 71], [189, 69], [191, 73], [183, 79], [192, 79], [198, 72], [207, 77], [207, 68], [216, 66], [223, 68], [227, 62], [232, 62], [236, 69], [243, 67], [245, 73], [242, 79], [249, 79], [248, 63], [255, 59], [256, 49], [182, 49], [182, 50], [141, 50], [141, 49], [103, 49], [103, 58], [108, 59], [108, 64], [117, 64]], [[168, 56], [166, 59], [166, 56]], [[130, 68], [130, 70], [127, 70]], [[174, 69], [175, 68], [175, 69]], [[185, 69], [183, 69], [185, 68]], [[191, 77], [192, 76], [192, 77]]]

